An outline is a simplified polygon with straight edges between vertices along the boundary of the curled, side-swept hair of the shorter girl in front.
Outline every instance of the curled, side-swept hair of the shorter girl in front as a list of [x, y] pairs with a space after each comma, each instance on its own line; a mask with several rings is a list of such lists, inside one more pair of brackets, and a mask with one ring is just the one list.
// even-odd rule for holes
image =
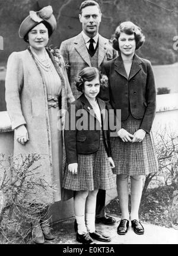
[[99, 77], [100, 87], [108, 86], [108, 78], [106, 75], [101, 74], [97, 68], [87, 67], [80, 71], [78, 76], [75, 78], [75, 86], [78, 91], [83, 91], [85, 81], [92, 81], [94, 78]]

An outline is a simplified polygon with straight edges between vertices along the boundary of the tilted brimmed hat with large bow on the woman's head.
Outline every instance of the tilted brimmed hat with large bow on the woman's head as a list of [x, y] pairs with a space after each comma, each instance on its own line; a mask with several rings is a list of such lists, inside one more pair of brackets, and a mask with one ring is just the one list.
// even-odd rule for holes
[[50, 27], [52, 28], [52, 33], [56, 29], [56, 19], [53, 15], [53, 10], [50, 5], [43, 7], [40, 11], [30, 11], [30, 15], [27, 16], [23, 20], [18, 30], [18, 35], [20, 38], [24, 38], [28, 31], [33, 29], [37, 24], [41, 23], [42, 21], [46, 21], [49, 23]]

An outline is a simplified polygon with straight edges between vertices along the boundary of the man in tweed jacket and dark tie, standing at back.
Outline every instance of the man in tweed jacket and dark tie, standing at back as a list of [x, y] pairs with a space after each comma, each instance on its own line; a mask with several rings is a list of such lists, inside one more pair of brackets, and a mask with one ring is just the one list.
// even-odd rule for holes
[[[117, 57], [108, 39], [98, 33], [101, 21], [100, 6], [96, 1], [87, 0], [80, 5], [80, 22], [82, 31], [75, 37], [61, 43], [61, 53], [68, 64], [67, 72], [69, 83], [75, 99], [80, 91], [75, 87], [75, 77], [85, 67], [96, 67], [101, 70], [104, 62]], [[96, 223], [110, 225], [116, 222], [113, 217], [107, 216], [104, 210], [106, 191], [99, 189], [96, 204]]]

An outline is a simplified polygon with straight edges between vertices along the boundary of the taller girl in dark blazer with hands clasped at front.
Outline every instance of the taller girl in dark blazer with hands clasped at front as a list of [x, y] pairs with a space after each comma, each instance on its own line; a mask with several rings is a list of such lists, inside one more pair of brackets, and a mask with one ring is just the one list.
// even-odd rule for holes
[[[144, 43], [141, 29], [126, 21], [117, 27], [113, 47], [119, 56], [103, 65], [109, 77], [109, 89], [103, 98], [113, 109], [121, 109], [121, 129], [111, 141], [117, 175], [117, 193], [122, 219], [119, 235], [128, 231], [129, 218], [134, 232], [144, 233], [138, 210], [142, 195], [143, 175], [157, 172], [158, 163], [152, 140], [151, 126], [155, 116], [155, 83], [151, 63], [139, 58], [135, 50]], [[102, 95], [102, 94], [101, 94]], [[128, 209], [128, 178], [131, 178], [131, 214]]]

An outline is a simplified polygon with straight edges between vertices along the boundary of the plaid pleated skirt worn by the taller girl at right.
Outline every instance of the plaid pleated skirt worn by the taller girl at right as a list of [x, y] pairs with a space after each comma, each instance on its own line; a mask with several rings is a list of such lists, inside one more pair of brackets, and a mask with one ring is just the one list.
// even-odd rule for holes
[[[142, 119], [135, 119], [132, 115], [121, 122], [121, 128], [131, 134], [136, 132]], [[141, 143], [123, 142], [120, 137], [111, 138], [112, 157], [115, 162], [115, 174], [148, 175], [158, 172], [158, 161], [154, 149], [152, 133], [146, 134]]]

